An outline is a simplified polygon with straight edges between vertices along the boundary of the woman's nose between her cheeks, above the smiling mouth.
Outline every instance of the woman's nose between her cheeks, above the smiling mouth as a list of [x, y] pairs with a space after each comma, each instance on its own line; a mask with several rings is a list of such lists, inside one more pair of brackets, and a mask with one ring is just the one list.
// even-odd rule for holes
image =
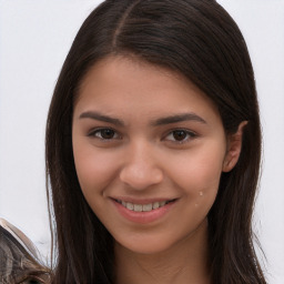
[[161, 183], [163, 171], [159, 166], [154, 149], [146, 143], [130, 145], [120, 180], [133, 190], [144, 190]]

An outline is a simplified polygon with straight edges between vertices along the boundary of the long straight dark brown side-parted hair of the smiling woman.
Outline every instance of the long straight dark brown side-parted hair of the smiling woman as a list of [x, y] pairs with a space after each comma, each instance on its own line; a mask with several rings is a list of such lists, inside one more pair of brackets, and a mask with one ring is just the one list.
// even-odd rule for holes
[[47, 124], [47, 178], [57, 244], [54, 283], [114, 283], [113, 240], [82, 195], [71, 124], [85, 73], [99, 60], [115, 54], [182, 73], [217, 105], [227, 134], [248, 121], [240, 160], [222, 174], [209, 213], [212, 282], [266, 283], [252, 233], [261, 160], [254, 74], [241, 31], [214, 0], [106, 0], [78, 32]]

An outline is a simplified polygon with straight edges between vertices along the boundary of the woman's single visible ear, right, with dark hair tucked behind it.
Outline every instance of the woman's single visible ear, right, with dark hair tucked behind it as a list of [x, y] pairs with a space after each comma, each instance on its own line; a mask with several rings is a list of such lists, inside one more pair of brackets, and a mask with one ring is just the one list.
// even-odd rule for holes
[[243, 130], [247, 121], [242, 121], [234, 134], [227, 136], [227, 150], [223, 162], [223, 172], [230, 172], [234, 169], [242, 151]]

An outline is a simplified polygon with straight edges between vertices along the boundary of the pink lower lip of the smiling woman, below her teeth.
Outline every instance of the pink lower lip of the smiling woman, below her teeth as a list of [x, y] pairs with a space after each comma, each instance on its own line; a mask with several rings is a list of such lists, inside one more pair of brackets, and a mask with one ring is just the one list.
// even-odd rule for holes
[[162, 207], [154, 209], [152, 211], [145, 212], [135, 212], [124, 207], [122, 204], [118, 203], [116, 201], [112, 200], [113, 204], [118, 209], [119, 213], [125, 217], [126, 220], [139, 223], [139, 224], [146, 224], [154, 222], [161, 217], [163, 217], [176, 203], [176, 201], [170, 202]]

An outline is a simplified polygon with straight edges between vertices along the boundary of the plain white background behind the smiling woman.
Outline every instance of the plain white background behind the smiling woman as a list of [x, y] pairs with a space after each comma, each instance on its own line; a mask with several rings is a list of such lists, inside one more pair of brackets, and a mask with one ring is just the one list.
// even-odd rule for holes
[[[101, 1], [0, 0], [0, 216], [49, 248], [45, 118], [63, 60]], [[270, 284], [284, 283], [284, 1], [220, 0], [241, 28], [261, 104], [264, 156], [255, 232]]]

